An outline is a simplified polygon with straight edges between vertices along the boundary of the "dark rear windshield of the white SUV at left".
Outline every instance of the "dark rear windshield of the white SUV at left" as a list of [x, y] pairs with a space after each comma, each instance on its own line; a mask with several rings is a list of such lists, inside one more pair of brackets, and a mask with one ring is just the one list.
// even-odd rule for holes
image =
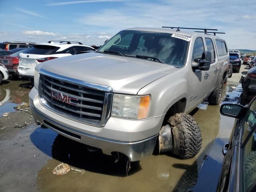
[[36, 55], [50, 55], [50, 54], [54, 54], [58, 49], [59, 47], [55, 47], [55, 46], [40, 45], [40, 46], [34, 46], [30, 48], [26, 50], [24, 53], [36, 54]]

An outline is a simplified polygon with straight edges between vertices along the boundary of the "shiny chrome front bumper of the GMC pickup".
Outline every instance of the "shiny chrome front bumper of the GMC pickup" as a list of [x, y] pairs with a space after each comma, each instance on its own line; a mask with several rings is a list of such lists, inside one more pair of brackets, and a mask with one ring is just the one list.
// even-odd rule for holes
[[146, 156], [150, 156], [154, 151], [157, 135], [137, 142], [109, 140], [78, 132], [77, 130], [65, 127], [46, 118], [34, 108], [31, 108], [31, 110], [37, 124], [42, 124], [72, 140], [100, 148], [104, 154], [112, 155], [112, 152], [120, 152], [125, 154], [130, 161], [138, 161]]

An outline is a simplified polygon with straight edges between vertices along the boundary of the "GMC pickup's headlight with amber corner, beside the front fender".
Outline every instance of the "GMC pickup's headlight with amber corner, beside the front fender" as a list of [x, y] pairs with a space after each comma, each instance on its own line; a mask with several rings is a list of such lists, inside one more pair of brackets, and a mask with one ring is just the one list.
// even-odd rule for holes
[[145, 119], [148, 118], [151, 104], [151, 96], [133, 96], [114, 94], [111, 116]]

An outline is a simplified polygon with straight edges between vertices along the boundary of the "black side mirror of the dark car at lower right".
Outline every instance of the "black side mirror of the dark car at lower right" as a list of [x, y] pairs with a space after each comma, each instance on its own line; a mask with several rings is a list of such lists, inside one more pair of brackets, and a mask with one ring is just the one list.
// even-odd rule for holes
[[244, 110], [244, 106], [240, 104], [226, 103], [220, 107], [220, 114], [228, 117], [240, 118], [241, 112]]

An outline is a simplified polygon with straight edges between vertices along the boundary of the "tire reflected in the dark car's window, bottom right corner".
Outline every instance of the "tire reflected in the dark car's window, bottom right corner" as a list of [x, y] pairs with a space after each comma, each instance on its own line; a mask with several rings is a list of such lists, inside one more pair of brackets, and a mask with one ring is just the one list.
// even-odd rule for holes
[[250, 186], [254, 183], [256, 175], [256, 151], [252, 151], [246, 155], [244, 161], [244, 180], [245, 186]]

